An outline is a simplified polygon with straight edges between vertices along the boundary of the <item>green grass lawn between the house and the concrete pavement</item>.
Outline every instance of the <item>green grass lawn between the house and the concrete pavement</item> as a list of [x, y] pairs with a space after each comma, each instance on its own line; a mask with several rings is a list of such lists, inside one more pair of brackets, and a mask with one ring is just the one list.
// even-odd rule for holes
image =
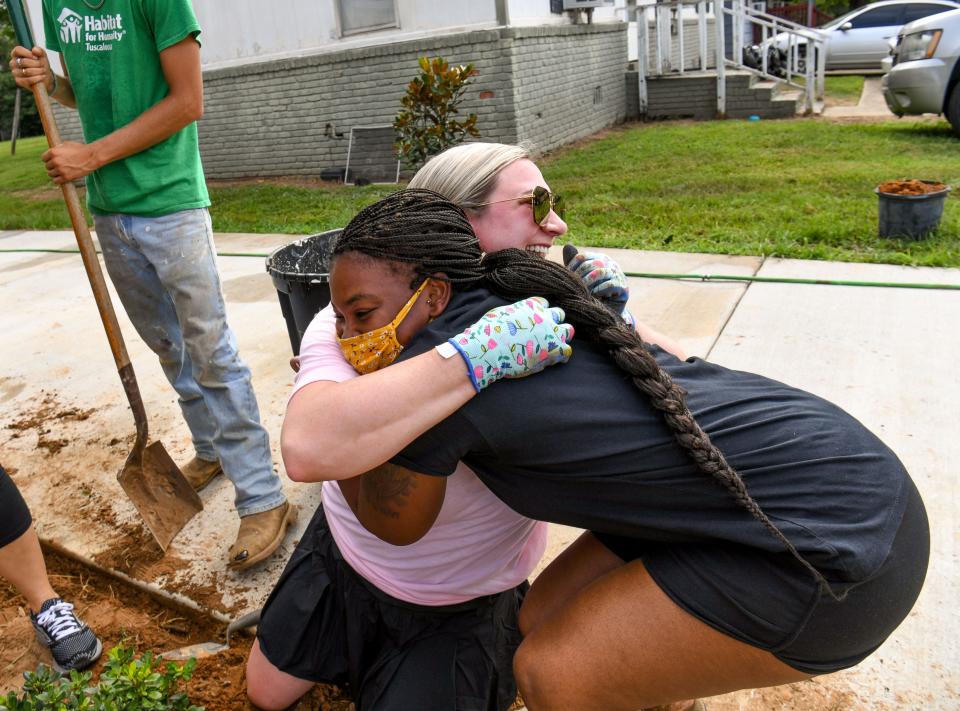
[[[846, 79], [846, 77], [838, 77]], [[42, 139], [0, 143], [0, 229], [69, 228]], [[628, 124], [540, 161], [568, 199], [578, 245], [960, 266], [960, 142], [945, 121]], [[954, 185], [939, 233], [877, 237], [873, 188]], [[393, 186], [305, 181], [211, 186], [221, 232], [310, 234], [344, 225]]]

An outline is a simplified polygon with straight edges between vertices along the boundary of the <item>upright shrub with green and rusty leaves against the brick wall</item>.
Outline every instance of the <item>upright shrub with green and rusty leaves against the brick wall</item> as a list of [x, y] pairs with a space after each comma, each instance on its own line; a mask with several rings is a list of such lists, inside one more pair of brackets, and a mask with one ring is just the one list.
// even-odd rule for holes
[[463, 122], [455, 118], [467, 85], [478, 73], [473, 65], [450, 66], [441, 57], [420, 57], [419, 63], [420, 76], [407, 86], [400, 100], [403, 108], [393, 120], [397, 154], [411, 169], [468, 135], [480, 135], [476, 114]]

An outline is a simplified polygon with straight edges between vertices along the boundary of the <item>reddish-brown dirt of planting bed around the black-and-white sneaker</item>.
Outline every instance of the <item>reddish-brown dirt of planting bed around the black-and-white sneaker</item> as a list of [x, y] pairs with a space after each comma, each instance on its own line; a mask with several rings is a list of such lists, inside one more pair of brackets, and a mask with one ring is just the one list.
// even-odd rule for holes
[[[94, 681], [106, 661], [106, 652], [123, 643], [137, 654], [164, 652], [201, 642], [223, 642], [224, 625], [189, 609], [163, 603], [142, 590], [91, 571], [56, 553], [46, 554], [50, 582], [73, 602], [80, 617], [103, 642], [104, 655], [93, 668]], [[19, 689], [23, 672], [49, 664], [49, 654], [36, 641], [26, 601], [0, 580], [0, 695]], [[207, 711], [252, 709], [246, 700], [244, 671], [253, 636], [240, 634], [232, 647], [200, 659], [188, 693]], [[334, 686], [317, 685], [297, 711], [348, 711], [349, 698]]]

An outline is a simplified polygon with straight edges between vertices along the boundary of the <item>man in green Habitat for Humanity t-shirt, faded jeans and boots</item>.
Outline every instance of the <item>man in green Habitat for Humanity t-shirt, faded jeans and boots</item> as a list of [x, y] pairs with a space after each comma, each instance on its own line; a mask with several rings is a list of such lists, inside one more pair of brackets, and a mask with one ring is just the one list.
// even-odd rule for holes
[[201, 489], [221, 472], [240, 514], [228, 565], [248, 568], [280, 545], [296, 511], [270, 443], [217, 272], [200, 163], [200, 26], [190, 0], [43, 0], [47, 48], [15, 47], [17, 85], [39, 82], [75, 108], [84, 142], [43, 154], [53, 182], [86, 178], [107, 271], [137, 332], [179, 397]]

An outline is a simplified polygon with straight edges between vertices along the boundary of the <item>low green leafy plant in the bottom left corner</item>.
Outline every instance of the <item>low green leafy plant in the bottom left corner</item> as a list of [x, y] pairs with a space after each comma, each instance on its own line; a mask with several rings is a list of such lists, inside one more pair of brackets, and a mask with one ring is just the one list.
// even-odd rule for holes
[[11, 691], [0, 697], [0, 711], [203, 711], [182, 688], [196, 665], [196, 659], [182, 667], [164, 664], [152, 652], [134, 659], [133, 650], [118, 644], [107, 655], [97, 686], [90, 686], [90, 672], [60, 676], [41, 664], [24, 674], [22, 695]]

